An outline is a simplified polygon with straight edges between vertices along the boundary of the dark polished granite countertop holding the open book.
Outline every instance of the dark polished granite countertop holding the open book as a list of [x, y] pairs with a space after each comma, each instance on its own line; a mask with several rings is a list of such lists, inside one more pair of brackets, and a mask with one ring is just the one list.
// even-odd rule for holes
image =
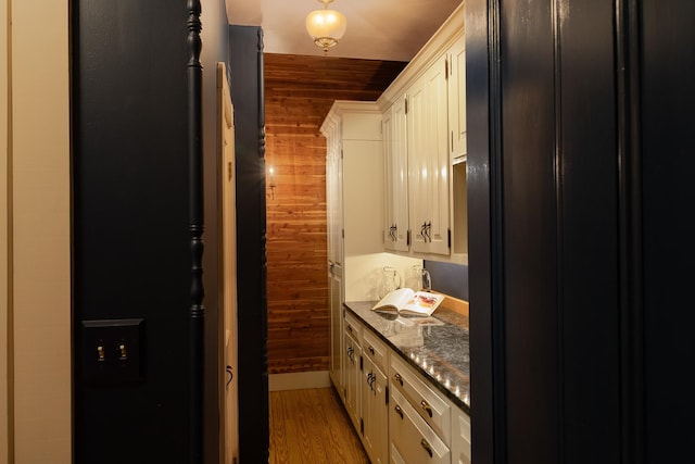
[[[410, 317], [389, 319], [371, 311], [376, 301], [350, 301], [345, 308], [470, 415], [470, 356], [468, 317], [445, 308], [432, 314], [435, 325]], [[441, 324], [441, 325], [440, 325]]]

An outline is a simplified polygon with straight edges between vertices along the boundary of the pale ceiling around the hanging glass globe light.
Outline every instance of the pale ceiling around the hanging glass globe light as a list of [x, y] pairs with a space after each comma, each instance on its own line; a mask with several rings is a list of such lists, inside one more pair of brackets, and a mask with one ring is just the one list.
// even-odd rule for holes
[[[318, 0], [225, 0], [229, 24], [262, 26], [265, 52], [323, 55], [306, 33]], [[348, 32], [329, 57], [410, 61], [462, 0], [334, 0]], [[462, 24], [463, 27], [463, 24]]]

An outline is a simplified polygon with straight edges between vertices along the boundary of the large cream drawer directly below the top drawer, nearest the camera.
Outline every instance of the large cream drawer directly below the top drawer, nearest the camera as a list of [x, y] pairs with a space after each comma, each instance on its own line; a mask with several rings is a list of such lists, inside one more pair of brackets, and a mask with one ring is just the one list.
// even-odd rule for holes
[[391, 389], [389, 439], [392, 462], [451, 464], [446, 444], [397, 389]]

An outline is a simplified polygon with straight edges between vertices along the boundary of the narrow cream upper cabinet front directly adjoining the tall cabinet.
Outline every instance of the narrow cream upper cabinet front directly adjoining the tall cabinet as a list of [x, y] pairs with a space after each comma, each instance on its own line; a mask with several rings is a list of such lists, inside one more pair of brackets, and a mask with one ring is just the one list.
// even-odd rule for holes
[[408, 158], [405, 98], [396, 100], [383, 114], [386, 171], [387, 250], [408, 251]]

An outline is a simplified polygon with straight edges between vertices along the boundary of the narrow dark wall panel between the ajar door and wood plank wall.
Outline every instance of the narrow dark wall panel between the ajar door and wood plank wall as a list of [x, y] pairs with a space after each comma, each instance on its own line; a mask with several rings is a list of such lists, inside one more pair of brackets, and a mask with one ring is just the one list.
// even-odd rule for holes
[[268, 462], [263, 33], [229, 27], [237, 160], [239, 460]]

